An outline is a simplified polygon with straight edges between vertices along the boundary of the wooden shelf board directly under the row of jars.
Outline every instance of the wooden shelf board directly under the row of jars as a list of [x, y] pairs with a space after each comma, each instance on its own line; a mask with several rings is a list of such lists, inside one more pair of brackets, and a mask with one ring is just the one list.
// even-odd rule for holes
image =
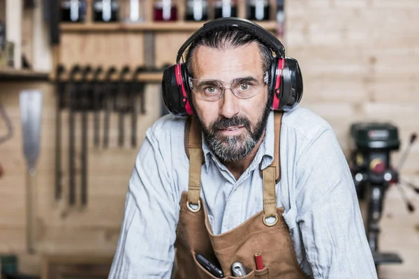
[[[196, 31], [205, 22], [145, 22], [145, 23], [61, 23], [62, 32], [91, 31]], [[268, 31], [275, 31], [277, 22], [256, 22]]]

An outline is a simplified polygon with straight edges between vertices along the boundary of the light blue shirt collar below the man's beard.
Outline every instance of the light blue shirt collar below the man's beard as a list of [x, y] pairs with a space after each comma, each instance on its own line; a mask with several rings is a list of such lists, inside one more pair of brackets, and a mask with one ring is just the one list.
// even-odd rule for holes
[[[258, 152], [256, 152], [255, 158], [253, 158], [253, 161], [251, 165], [249, 166], [249, 169], [254, 169], [260, 165], [260, 169], [265, 169], [267, 166], [271, 165], [274, 160], [274, 142], [275, 142], [275, 135], [274, 135], [274, 112], [270, 112], [268, 118], [267, 118], [267, 126], [265, 131], [265, 137], [263, 138], [262, 143], [259, 146]], [[207, 145], [207, 141], [204, 139], [204, 136], [202, 134], [203, 139], [203, 153], [205, 158], [205, 169], [208, 172], [208, 168], [210, 167], [210, 163], [216, 159], [216, 156], [212, 153], [210, 148]], [[261, 164], [260, 164], [261, 163]]]

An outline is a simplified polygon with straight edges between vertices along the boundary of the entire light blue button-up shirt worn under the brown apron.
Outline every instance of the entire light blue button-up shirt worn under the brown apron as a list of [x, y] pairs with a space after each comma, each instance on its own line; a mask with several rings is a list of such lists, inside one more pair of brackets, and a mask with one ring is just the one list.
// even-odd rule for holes
[[[170, 278], [179, 200], [188, 190], [185, 118], [167, 115], [147, 130], [129, 181], [124, 220], [109, 278]], [[377, 278], [358, 199], [334, 131], [296, 107], [281, 126], [277, 206], [291, 232], [297, 261], [314, 278]], [[271, 112], [253, 162], [236, 180], [203, 141], [201, 197], [214, 234], [234, 229], [263, 210], [265, 168], [274, 156]]]

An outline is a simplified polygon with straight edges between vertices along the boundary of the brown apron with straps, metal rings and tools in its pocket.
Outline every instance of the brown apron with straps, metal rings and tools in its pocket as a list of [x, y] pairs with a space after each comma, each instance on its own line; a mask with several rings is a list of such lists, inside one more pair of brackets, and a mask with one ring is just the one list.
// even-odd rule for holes
[[[177, 239], [175, 243], [175, 278], [216, 278], [203, 266], [195, 255], [203, 254], [213, 264], [219, 262], [225, 278], [232, 276], [231, 265], [241, 262], [247, 269], [242, 278], [309, 278], [300, 269], [291, 243], [288, 226], [282, 214], [284, 207], [277, 208], [275, 184], [280, 179], [279, 138], [281, 112], [275, 112], [274, 162], [263, 169], [263, 211], [223, 234], [212, 234], [203, 199], [200, 198], [200, 170], [203, 163], [201, 133], [192, 119], [186, 145], [189, 153], [189, 189], [182, 193], [180, 201]], [[274, 219], [268, 223], [265, 218]], [[254, 255], [260, 253], [264, 268], [256, 270]]]

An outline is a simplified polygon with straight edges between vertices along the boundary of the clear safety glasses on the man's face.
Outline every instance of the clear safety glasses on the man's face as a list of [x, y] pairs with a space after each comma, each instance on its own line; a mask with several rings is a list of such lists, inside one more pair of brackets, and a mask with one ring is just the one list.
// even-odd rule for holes
[[230, 89], [239, 99], [247, 99], [258, 95], [265, 84], [267, 84], [267, 72], [263, 73], [262, 78], [258, 77], [239, 77], [231, 82], [230, 87], [226, 87], [221, 80], [198, 80], [189, 77], [189, 86], [196, 96], [203, 100], [216, 101], [219, 100]]

